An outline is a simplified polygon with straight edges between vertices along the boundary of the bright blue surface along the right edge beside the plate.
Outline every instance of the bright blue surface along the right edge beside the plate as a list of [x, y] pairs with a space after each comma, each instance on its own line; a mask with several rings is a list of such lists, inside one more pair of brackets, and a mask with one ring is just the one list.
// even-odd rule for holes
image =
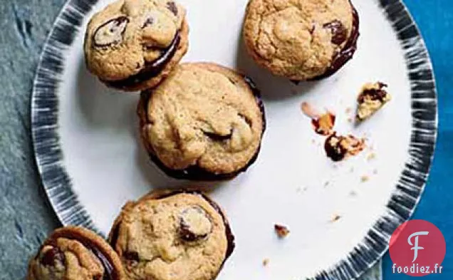
[[[423, 279], [453, 279], [453, 1], [404, 0], [422, 32], [434, 66], [439, 100], [439, 132], [434, 162], [425, 193], [414, 219], [425, 219], [442, 231], [447, 243], [447, 255], [442, 274], [430, 274]], [[383, 260], [385, 280], [414, 279], [392, 274], [388, 254]]]

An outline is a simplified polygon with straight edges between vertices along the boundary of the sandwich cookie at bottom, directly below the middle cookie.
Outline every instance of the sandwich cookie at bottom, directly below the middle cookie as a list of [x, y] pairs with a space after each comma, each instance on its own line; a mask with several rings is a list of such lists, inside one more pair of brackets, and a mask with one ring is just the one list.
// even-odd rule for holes
[[127, 202], [109, 240], [131, 280], [211, 280], [234, 249], [220, 207], [189, 190], [160, 190]]

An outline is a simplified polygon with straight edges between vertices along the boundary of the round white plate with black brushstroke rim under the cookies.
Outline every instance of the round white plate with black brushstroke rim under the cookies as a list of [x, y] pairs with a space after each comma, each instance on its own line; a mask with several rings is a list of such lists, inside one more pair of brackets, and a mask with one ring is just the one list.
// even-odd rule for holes
[[[58, 217], [106, 234], [127, 200], [155, 187], [203, 185], [226, 210], [236, 236], [219, 280], [349, 279], [363, 273], [420, 199], [436, 135], [431, 64], [405, 7], [396, 0], [355, 0], [360, 38], [353, 60], [331, 78], [293, 85], [246, 55], [246, 0], [180, 2], [190, 26], [183, 61], [237, 68], [261, 89], [267, 130], [258, 160], [220, 183], [172, 180], [157, 170], [138, 141], [139, 95], [106, 88], [85, 68], [85, 26], [108, 1], [72, 0], [45, 46], [32, 105], [36, 159]], [[348, 118], [369, 81], [387, 83], [392, 100], [355, 126]], [[303, 101], [335, 112], [335, 130], [367, 138], [368, 149], [330, 161], [325, 138], [301, 112]], [[376, 157], [368, 160], [372, 152]], [[363, 182], [364, 176], [369, 180]], [[286, 239], [276, 237], [276, 223], [291, 229]]]

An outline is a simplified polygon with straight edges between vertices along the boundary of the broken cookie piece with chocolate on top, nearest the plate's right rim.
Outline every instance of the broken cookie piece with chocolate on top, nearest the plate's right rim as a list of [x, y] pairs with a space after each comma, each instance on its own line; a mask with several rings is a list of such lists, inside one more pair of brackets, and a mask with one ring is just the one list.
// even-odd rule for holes
[[365, 83], [357, 98], [358, 108], [355, 119], [358, 121], [370, 118], [377, 110], [390, 101], [391, 96], [387, 93], [385, 83]]

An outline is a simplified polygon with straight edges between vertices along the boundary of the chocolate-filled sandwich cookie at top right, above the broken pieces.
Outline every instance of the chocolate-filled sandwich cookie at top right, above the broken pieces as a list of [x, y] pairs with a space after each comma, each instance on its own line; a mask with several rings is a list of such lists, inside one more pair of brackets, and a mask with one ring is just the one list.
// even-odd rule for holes
[[260, 66], [306, 81], [328, 77], [352, 58], [358, 24], [349, 0], [250, 0], [243, 35]]

